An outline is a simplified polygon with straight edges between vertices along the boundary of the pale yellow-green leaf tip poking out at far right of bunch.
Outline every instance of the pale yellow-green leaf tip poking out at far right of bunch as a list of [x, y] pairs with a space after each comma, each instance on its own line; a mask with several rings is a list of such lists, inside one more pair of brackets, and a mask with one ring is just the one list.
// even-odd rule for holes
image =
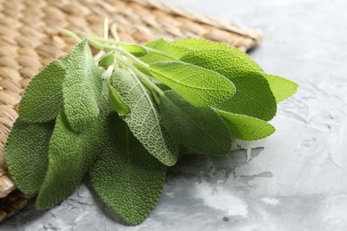
[[265, 78], [270, 84], [271, 91], [276, 98], [276, 102], [286, 100], [291, 97], [298, 89], [299, 85], [293, 81], [280, 76], [266, 75]]

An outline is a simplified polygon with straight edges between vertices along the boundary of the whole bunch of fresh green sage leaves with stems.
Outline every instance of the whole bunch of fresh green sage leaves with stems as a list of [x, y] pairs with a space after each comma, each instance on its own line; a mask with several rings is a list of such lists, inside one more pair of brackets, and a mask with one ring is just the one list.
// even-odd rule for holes
[[[142, 46], [69, 31], [80, 42], [37, 74], [4, 147], [12, 179], [47, 209], [88, 176], [126, 223], [149, 216], [184, 153], [226, 155], [231, 137], [263, 139], [297, 84], [206, 40]], [[100, 50], [93, 57], [89, 46]]]

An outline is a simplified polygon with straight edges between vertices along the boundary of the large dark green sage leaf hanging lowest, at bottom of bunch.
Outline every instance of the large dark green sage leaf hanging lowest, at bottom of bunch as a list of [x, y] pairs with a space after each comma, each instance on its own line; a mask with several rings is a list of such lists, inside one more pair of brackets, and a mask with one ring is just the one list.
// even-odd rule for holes
[[165, 182], [165, 165], [149, 155], [125, 122], [111, 114], [103, 154], [90, 176], [101, 200], [127, 223], [137, 225], [157, 204]]

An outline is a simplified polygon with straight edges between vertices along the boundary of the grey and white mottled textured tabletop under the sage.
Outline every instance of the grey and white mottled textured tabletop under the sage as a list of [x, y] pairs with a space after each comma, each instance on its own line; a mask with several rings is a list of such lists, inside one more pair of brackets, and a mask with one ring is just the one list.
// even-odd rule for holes
[[347, 230], [347, 1], [168, 2], [262, 28], [251, 56], [300, 84], [278, 108], [278, 131], [226, 157], [186, 158], [141, 226], [115, 222], [82, 186], [0, 230]]

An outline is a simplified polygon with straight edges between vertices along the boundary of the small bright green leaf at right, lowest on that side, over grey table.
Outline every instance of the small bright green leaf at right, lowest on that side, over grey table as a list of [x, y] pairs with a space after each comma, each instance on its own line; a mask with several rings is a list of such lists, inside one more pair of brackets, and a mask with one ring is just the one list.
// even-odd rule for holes
[[219, 115], [223, 117], [225, 122], [228, 124], [231, 135], [238, 139], [263, 139], [275, 132], [275, 128], [270, 123], [267, 123], [263, 120], [251, 116], [238, 115], [218, 109], [215, 110], [219, 113]]

